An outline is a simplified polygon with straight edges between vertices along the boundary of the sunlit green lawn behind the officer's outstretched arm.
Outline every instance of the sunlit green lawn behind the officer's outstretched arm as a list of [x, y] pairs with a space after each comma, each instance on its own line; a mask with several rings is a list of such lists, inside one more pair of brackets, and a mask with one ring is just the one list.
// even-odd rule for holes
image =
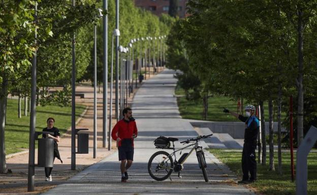
[[[177, 97], [177, 104], [179, 108], [180, 115], [182, 118], [186, 119], [196, 119], [203, 120], [203, 102], [199, 101], [188, 101], [185, 97], [185, 91], [176, 86], [175, 95], [179, 95]], [[244, 103], [245, 105], [247, 103]], [[244, 106], [245, 106], [244, 105]], [[240, 121], [236, 119], [234, 116], [224, 113], [224, 107], [233, 111], [237, 111], [237, 102], [231, 101], [229, 98], [225, 96], [212, 96], [208, 98], [208, 113], [207, 120], [208, 121]], [[268, 121], [268, 104], [264, 104], [264, 113], [265, 113], [265, 121]], [[244, 112], [244, 111], [243, 111]], [[286, 113], [282, 113], [282, 119], [286, 116]], [[274, 116], [274, 121], [277, 121], [277, 115]]]

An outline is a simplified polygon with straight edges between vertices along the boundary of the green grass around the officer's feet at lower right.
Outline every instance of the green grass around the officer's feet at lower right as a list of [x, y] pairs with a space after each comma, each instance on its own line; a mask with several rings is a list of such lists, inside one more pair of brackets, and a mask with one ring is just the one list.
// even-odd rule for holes
[[[241, 171], [241, 152], [228, 151], [223, 149], [209, 149], [217, 158], [229, 166], [240, 179], [242, 178]], [[268, 154], [267, 154], [268, 155]], [[294, 154], [294, 162], [296, 164], [296, 153]], [[308, 194], [317, 194], [317, 153], [310, 152], [307, 159], [308, 164]], [[274, 153], [275, 169], [277, 170], [277, 153]], [[291, 181], [291, 160], [290, 152], [282, 153], [282, 175], [277, 171], [268, 171], [269, 156], [267, 156], [267, 166], [258, 165], [258, 180], [250, 184], [258, 192], [262, 194], [295, 194], [296, 185]], [[296, 169], [296, 165], [294, 165]]]

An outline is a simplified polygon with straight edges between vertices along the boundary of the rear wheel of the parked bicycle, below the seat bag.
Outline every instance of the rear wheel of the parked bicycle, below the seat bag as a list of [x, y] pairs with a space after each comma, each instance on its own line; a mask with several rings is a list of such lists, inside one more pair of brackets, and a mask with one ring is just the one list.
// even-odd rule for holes
[[155, 152], [149, 159], [147, 170], [156, 181], [166, 180], [173, 172], [173, 158], [166, 151]]

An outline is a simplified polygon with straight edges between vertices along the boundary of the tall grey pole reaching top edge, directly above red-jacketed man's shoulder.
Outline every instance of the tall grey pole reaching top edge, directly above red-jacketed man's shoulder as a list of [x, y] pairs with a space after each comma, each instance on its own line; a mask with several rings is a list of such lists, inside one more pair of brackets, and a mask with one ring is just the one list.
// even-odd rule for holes
[[[116, 29], [119, 29], [119, 0], [116, 0], [116, 15], [115, 15], [115, 19], [116, 19]], [[118, 47], [119, 47], [119, 37], [116, 37], [116, 94], [115, 94], [115, 106], [116, 106], [116, 119], [117, 121], [119, 120], [119, 51], [118, 51]]]

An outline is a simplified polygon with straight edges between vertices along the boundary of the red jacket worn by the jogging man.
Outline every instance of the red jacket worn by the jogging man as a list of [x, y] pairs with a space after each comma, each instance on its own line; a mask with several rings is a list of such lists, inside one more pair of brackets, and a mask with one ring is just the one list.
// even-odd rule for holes
[[[121, 119], [116, 125], [114, 125], [111, 132], [111, 137], [114, 140], [117, 140], [117, 138], [120, 138], [121, 140], [132, 139], [133, 134], [138, 136], [137, 123], [135, 121], [127, 122], [126, 120]], [[118, 146], [121, 146], [121, 141], [118, 142]], [[133, 139], [132, 146], [134, 146]]]

